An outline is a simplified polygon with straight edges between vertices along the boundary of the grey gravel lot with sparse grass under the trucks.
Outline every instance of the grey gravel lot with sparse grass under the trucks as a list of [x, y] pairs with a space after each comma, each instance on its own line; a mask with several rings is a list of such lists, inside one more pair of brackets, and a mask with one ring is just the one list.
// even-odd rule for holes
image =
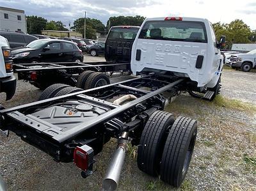
[[[256, 73], [225, 69], [222, 84], [216, 102], [180, 95], [166, 108], [175, 116], [198, 120], [195, 152], [181, 190], [256, 190]], [[13, 99], [5, 102], [3, 95], [0, 99], [5, 107], [13, 107], [35, 101], [40, 93], [18, 81]], [[0, 135], [0, 174], [8, 190], [100, 190], [115, 145], [111, 140], [104, 146], [95, 157], [97, 170], [84, 180], [74, 164], [56, 163], [14, 134]], [[175, 190], [141, 172], [134, 153], [136, 148], [129, 148], [119, 190]]]

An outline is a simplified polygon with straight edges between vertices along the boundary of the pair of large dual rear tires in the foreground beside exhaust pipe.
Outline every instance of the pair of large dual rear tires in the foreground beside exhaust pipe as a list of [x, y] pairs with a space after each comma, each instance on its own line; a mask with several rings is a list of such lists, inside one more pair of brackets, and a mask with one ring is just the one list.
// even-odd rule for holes
[[138, 147], [138, 167], [151, 176], [180, 187], [193, 154], [197, 123], [190, 118], [156, 111], [143, 129]]

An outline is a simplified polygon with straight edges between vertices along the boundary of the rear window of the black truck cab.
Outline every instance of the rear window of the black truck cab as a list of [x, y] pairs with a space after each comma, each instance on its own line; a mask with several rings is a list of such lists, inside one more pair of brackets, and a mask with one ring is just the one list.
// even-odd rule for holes
[[134, 40], [139, 28], [114, 27], [108, 34], [108, 39], [130, 39]]

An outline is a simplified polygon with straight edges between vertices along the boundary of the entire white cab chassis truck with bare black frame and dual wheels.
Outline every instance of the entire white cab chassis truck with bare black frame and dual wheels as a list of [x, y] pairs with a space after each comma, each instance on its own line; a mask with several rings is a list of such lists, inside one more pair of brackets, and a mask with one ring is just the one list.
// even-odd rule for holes
[[199, 97], [194, 91], [204, 93], [202, 98], [208, 100], [216, 96], [223, 66], [218, 47], [207, 20], [147, 19], [132, 47], [131, 69], [141, 76], [92, 86], [106, 81], [106, 76], [85, 71], [80, 81], [92, 89], [53, 84], [38, 102], [0, 110], [0, 132], [15, 132], [58, 162], [74, 161], [83, 178], [93, 173], [94, 156], [115, 138], [118, 144], [103, 190], [118, 187], [131, 141], [138, 146], [138, 169], [180, 187], [193, 155], [197, 122], [182, 116], [175, 119], [163, 110], [170, 98], [183, 91]]

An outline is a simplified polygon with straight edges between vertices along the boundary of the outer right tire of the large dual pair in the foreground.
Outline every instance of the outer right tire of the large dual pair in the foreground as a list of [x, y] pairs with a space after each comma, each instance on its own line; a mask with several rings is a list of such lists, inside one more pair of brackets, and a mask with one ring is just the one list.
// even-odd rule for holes
[[174, 187], [180, 187], [188, 172], [196, 133], [197, 123], [194, 119], [179, 117], [175, 120], [164, 145], [160, 167], [161, 180]]

